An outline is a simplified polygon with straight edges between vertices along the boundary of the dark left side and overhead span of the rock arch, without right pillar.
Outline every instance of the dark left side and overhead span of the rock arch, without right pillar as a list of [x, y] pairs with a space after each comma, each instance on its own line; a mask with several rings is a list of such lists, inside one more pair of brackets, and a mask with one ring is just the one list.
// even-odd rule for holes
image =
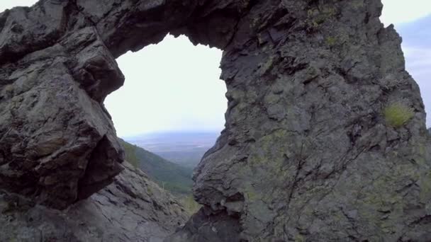
[[[3, 110], [11, 110], [1, 127], [1, 187], [64, 209], [111, 183], [124, 156], [103, 107], [124, 82], [115, 59], [168, 32], [223, 50], [246, 8], [236, 2], [42, 0], [1, 13], [1, 100]], [[17, 100], [18, 115], [10, 106]]]

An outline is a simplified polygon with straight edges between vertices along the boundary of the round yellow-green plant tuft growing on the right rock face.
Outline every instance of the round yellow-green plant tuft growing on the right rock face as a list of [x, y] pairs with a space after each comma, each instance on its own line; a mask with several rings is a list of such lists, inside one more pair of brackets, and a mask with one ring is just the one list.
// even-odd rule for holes
[[413, 108], [408, 108], [401, 103], [393, 103], [384, 109], [386, 123], [396, 128], [405, 125], [414, 115]]

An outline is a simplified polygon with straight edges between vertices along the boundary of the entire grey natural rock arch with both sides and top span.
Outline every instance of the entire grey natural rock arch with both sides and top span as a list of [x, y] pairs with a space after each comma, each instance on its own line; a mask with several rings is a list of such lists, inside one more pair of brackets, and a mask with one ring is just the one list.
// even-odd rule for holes
[[42, 0], [5, 11], [0, 188], [65, 209], [111, 183], [123, 160], [103, 108], [123, 84], [115, 59], [169, 32], [224, 51], [228, 110], [194, 175], [204, 207], [166, 241], [430, 241], [424, 106], [381, 9]]

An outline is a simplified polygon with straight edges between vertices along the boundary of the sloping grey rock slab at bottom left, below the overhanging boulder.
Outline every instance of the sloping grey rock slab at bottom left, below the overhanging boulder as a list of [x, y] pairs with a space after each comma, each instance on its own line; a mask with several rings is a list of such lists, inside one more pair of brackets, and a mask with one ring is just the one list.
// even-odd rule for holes
[[162, 241], [186, 212], [145, 173], [123, 166], [111, 185], [62, 212], [2, 192], [0, 241]]

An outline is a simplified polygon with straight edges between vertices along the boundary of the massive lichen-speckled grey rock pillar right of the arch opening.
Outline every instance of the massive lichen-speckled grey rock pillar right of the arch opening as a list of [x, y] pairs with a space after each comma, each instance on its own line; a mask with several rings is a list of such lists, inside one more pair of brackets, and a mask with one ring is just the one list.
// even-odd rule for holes
[[254, 3], [223, 54], [226, 129], [194, 176], [212, 213], [167, 241], [229, 241], [194, 223], [225, 214], [233, 241], [431, 240], [424, 107], [380, 1]]

